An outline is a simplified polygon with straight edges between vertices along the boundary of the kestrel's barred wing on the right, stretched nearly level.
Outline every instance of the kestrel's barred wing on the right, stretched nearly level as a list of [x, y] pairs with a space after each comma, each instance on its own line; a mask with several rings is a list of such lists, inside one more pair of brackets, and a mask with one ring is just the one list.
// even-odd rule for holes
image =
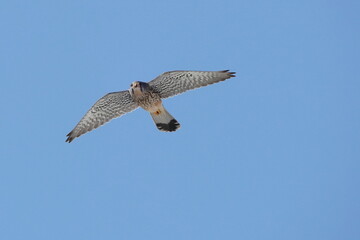
[[204, 87], [209, 84], [235, 77], [235, 72], [225, 71], [171, 71], [149, 82], [161, 98], [173, 97], [187, 90]]

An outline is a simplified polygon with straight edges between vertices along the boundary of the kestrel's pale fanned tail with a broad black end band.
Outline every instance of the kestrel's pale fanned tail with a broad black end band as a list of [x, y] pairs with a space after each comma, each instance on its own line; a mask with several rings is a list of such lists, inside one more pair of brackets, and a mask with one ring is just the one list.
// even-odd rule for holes
[[174, 132], [180, 128], [178, 121], [162, 105], [150, 115], [160, 131]]

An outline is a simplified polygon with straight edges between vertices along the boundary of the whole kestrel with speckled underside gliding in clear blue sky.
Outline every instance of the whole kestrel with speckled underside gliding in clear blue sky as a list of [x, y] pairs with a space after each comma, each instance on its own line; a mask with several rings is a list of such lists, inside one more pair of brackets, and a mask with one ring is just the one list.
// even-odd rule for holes
[[66, 142], [120, 117], [138, 107], [148, 111], [160, 131], [174, 132], [180, 128], [178, 121], [164, 108], [162, 99], [185, 91], [204, 87], [235, 77], [235, 72], [225, 71], [171, 71], [146, 83], [136, 81], [129, 90], [108, 93], [100, 98], [67, 135]]

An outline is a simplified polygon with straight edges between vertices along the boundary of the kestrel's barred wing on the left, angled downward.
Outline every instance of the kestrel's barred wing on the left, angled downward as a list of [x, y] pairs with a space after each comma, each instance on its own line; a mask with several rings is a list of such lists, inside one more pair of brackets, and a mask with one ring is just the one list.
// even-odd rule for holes
[[138, 105], [133, 101], [129, 91], [108, 93], [100, 98], [85, 114], [76, 127], [67, 135], [66, 142], [71, 142], [113, 118], [135, 110]]

